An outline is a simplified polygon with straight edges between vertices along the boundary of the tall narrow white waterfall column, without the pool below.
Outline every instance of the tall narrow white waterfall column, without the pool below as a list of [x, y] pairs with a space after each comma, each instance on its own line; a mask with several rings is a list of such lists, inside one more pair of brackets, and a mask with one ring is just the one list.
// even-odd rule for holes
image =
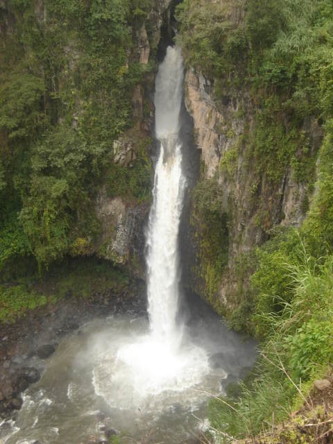
[[148, 313], [153, 336], [167, 343], [179, 340], [176, 331], [180, 264], [178, 230], [185, 189], [178, 137], [183, 83], [182, 56], [171, 46], [155, 84], [155, 131], [160, 157], [155, 169], [153, 206], [148, 224]]

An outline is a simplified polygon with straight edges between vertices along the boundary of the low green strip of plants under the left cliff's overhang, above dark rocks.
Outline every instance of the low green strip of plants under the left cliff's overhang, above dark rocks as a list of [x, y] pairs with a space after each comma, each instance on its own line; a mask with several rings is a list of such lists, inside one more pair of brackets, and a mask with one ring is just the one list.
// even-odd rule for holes
[[35, 269], [11, 273], [12, 282], [0, 281], [0, 322], [13, 322], [27, 311], [67, 298], [90, 299], [94, 295], [127, 293], [130, 278], [108, 261], [67, 258], [50, 266], [43, 277]]

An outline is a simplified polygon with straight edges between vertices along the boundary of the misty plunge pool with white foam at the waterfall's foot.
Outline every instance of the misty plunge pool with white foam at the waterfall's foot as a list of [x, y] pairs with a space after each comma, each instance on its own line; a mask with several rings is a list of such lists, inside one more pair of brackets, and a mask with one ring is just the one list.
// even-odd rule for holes
[[[223, 393], [227, 378], [243, 377], [253, 365], [255, 341], [230, 332], [197, 296], [188, 296], [186, 305], [178, 355], [184, 365], [177, 359], [175, 375], [172, 362], [171, 368], [166, 365], [172, 355], [161, 349], [147, 355], [142, 348], [135, 368], [126, 363], [128, 347], [148, 336], [146, 317], [95, 319], [62, 339], [45, 361], [42, 378], [24, 393], [3, 442], [87, 444], [89, 436], [99, 442], [104, 429], [120, 431], [121, 443], [194, 438], [211, 396]], [[119, 350], [125, 356], [119, 357]]]

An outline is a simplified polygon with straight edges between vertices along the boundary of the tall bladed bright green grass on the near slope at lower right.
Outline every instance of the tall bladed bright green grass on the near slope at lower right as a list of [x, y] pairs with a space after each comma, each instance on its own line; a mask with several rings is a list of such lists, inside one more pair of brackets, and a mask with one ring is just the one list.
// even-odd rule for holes
[[[212, 426], [224, 434], [221, 442], [228, 442], [226, 435], [255, 436], [287, 419], [294, 404], [307, 402], [312, 379], [333, 359], [333, 255], [314, 259], [301, 239], [299, 250], [300, 262], [280, 264], [291, 283], [288, 300], [280, 298], [282, 309], [256, 314], [266, 339], [255, 370], [226, 400], [210, 402]], [[267, 263], [260, 266], [269, 273]]]

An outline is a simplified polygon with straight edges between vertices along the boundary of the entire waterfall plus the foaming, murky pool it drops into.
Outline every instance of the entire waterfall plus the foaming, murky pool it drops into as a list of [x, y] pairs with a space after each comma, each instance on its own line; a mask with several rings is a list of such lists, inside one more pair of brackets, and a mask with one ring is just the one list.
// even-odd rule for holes
[[[4, 434], [6, 444], [83, 443], [103, 417], [134, 441], [179, 443], [196, 427], [191, 413], [205, 415], [207, 393], [220, 393], [227, 374], [237, 378], [253, 363], [253, 343], [242, 343], [194, 295], [189, 322], [177, 323], [186, 185], [179, 137], [182, 82], [180, 50], [169, 47], [156, 78], [160, 156], [147, 234], [149, 324], [128, 311], [91, 321], [80, 335], [60, 341], [42, 379], [24, 394], [15, 424], [0, 423], [0, 442]], [[28, 365], [41, 365], [31, 359]]]

